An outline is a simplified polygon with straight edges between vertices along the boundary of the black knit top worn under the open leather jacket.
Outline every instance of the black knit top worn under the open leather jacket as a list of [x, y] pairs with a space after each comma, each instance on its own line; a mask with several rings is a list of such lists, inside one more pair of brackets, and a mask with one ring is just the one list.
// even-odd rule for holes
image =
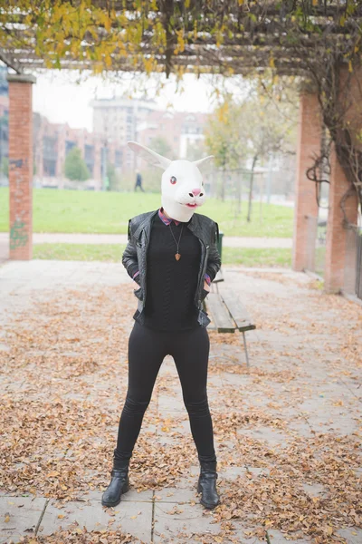
[[[178, 242], [178, 251], [170, 228]], [[197, 308], [194, 305], [200, 267], [200, 241], [187, 228], [187, 223], [170, 225], [155, 216], [151, 228], [147, 258], [147, 297], [145, 324], [150, 328], [177, 331], [196, 328]]]

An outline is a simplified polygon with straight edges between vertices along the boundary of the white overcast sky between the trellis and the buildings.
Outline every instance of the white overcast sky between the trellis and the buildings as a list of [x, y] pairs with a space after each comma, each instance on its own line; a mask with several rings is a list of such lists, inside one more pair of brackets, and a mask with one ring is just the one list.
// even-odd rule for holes
[[38, 73], [33, 85], [33, 110], [45, 115], [49, 121], [68, 122], [72, 128], [85, 127], [89, 131], [92, 130], [90, 101], [94, 98], [120, 96], [123, 92], [137, 98], [142, 95], [142, 89], [147, 89], [147, 98], [155, 98], [160, 108], [185, 112], [213, 110], [214, 84], [210, 76], [204, 75], [197, 80], [194, 75], [186, 74], [182, 83], [183, 90], [178, 91], [175, 78], [167, 81], [164, 75], [158, 77], [165, 86], [155, 96], [157, 80], [154, 77], [146, 80], [141, 74], [121, 73], [112, 79], [112, 75], [102, 78], [69, 71]]

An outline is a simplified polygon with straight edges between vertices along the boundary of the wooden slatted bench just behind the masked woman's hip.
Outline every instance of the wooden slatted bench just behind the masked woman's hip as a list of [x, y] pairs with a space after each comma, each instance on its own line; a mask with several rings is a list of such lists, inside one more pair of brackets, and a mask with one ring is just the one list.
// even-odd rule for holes
[[246, 364], [249, 366], [245, 332], [252, 331], [256, 326], [252, 324], [252, 320], [247, 315], [239, 297], [210, 292], [205, 298], [204, 306], [211, 319], [211, 323], [207, 326], [208, 329], [216, 330], [218, 333], [234, 333], [235, 331], [243, 333], [243, 348]]

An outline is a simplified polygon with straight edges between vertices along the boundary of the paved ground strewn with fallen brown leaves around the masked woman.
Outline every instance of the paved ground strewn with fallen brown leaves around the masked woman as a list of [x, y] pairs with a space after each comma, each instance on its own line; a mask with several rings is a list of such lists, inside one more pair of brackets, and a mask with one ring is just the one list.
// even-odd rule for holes
[[[296, 278], [226, 273], [223, 288], [243, 294], [257, 329], [247, 334], [249, 369], [239, 335], [210, 332], [222, 501], [199, 511], [219, 530], [157, 541], [272, 542], [277, 531], [315, 544], [352, 542], [346, 528], [361, 538], [362, 310]], [[66, 514], [68, 503], [100, 497], [109, 482], [134, 309], [128, 285], [38, 291], [4, 327], [1, 490], [50, 498], [64, 510], [62, 529], [24, 536], [26, 543], [138, 541], [117, 527], [113, 509], [100, 531], [67, 524]], [[176, 369], [164, 366], [130, 464], [132, 488], [154, 491], [156, 502], [165, 489], [191, 489], [187, 475], [197, 478]], [[173, 519], [183, 515], [182, 506], [169, 510]]]

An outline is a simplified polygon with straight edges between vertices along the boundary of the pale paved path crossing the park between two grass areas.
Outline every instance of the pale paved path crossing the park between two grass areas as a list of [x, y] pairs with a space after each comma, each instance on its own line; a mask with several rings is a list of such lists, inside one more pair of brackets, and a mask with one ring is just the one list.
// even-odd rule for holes
[[[0, 232], [0, 256], [5, 255], [9, 235]], [[34, 244], [127, 244], [126, 234], [66, 234], [66, 233], [33, 233]], [[223, 238], [225, 248], [287, 248], [292, 247], [291, 238]]]

